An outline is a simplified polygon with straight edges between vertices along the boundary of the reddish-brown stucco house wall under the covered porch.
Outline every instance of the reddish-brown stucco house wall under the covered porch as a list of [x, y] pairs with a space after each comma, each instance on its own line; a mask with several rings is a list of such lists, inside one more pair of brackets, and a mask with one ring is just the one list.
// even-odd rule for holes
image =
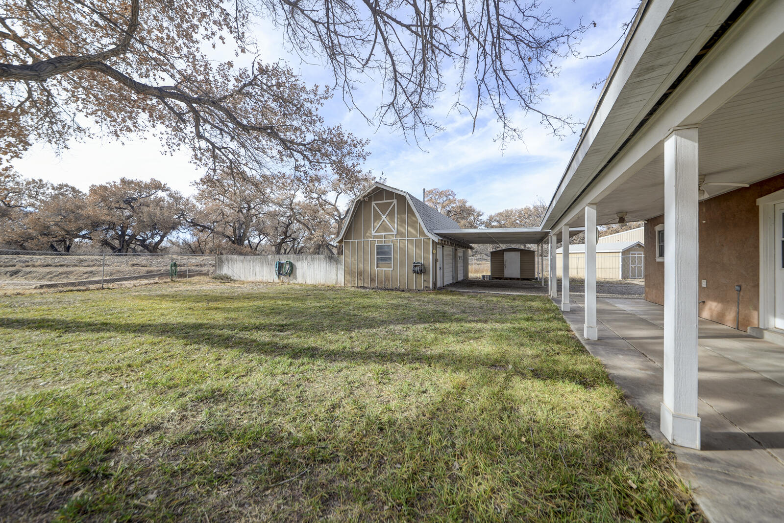
[[[784, 189], [784, 174], [736, 189], [699, 204], [699, 316], [735, 326], [741, 286], [739, 328], [759, 325], [760, 227], [757, 198]], [[645, 224], [645, 299], [664, 304], [664, 262], [656, 262], [655, 227], [663, 216]], [[664, 234], [666, 236], [666, 227]]]

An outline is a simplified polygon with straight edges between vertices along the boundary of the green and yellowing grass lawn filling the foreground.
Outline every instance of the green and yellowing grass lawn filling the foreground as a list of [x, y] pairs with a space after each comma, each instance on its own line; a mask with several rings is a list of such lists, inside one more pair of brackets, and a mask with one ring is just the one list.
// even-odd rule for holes
[[0, 297], [0, 518], [699, 520], [692, 503], [547, 298]]

